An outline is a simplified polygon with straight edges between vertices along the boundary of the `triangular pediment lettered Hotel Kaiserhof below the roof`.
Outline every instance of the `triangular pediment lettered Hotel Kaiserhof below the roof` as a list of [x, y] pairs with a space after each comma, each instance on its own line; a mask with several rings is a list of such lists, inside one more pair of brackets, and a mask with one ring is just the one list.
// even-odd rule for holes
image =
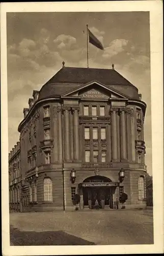
[[93, 81], [74, 90], [64, 93], [62, 97], [79, 97], [81, 99], [127, 99], [127, 97], [114, 89]]

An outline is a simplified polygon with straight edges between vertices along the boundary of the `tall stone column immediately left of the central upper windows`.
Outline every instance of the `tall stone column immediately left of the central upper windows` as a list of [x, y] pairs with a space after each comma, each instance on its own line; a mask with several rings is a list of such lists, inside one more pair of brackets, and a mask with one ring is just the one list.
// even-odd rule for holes
[[79, 108], [72, 108], [73, 111], [73, 148], [74, 148], [74, 160], [80, 158], [80, 146], [79, 146], [79, 120], [78, 112]]

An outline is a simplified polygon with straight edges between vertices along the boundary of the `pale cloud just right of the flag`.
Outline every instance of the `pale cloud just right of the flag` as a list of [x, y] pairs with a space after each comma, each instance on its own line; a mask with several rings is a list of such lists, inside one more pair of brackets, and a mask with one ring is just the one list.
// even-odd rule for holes
[[115, 39], [111, 42], [111, 44], [104, 48], [104, 53], [102, 57], [109, 58], [114, 55], [117, 55], [118, 53], [121, 53], [124, 51], [124, 47], [126, 47], [128, 44], [128, 40], [125, 39]]

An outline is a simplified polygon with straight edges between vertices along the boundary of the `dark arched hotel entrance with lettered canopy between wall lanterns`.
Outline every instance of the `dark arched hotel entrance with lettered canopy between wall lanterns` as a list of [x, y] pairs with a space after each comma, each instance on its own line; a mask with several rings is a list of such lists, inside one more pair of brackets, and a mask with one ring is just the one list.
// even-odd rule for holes
[[[105, 186], [105, 183], [107, 183], [107, 186]], [[90, 209], [94, 209], [96, 199], [98, 201], [99, 208], [103, 209], [104, 207], [114, 207], [113, 194], [115, 193], [116, 186], [108, 186], [108, 183], [112, 183], [112, 181], [102, 176], [93, 176], [84, 180], [84, 184], [87, 184], [87, 186], [83, 187], [85, 208], [89, 207]]]

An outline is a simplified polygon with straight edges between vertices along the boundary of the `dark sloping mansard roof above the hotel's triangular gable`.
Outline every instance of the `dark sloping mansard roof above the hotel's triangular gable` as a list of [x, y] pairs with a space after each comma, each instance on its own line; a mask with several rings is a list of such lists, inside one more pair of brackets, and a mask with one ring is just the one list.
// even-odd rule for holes
[[138, 89], [116, 70], [72, 67], [63, 67], [52, 76], [41, 88], [38, 99], [60, 96], [94, 80], [127, 95], [128, 98], [140, 99]]

